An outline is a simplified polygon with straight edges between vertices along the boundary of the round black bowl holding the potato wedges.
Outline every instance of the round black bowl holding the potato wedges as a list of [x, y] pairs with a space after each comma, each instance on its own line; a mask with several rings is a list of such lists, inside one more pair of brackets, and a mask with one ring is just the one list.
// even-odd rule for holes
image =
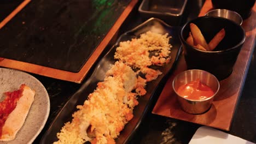
[[[200, 28], [207, 43], [222, 28], [225, 29], [225, 37], [213, 51], [196, 49], [185, 41], [190, 32], [189, 24], [191, 22]], [[218, 80], [223, 80], [232, 73], [246, 35], [243, 28], [233, 21], [222, 17], [203, 16], [186, 23], [182, 27], [179, 37], [188, 69], [206, 70], [215, 75]]]

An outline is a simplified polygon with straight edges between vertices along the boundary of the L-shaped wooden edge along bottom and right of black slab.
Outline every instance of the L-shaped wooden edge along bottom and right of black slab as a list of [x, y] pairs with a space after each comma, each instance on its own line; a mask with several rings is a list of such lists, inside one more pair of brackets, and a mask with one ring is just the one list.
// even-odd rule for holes
[[132, 0], [130, 4], [127, 5], [123, 13], [120, 15], [118, 20], [114, 23], [113, 27], [107, 33], [106, 37], [104, 37], [104, 39], [97, 46], [96, 50], [91, 54], [88, 61], [83, 65], [82, 69], [78, 71], [78, 73], [44, 67], [37, 64], [15, 61], [13, 59], [7, 59], [7, 58], [0, 58], [0, 66], [27, 71], [33, 74], [53, 77], [55, 79], [81, 83], [84, 77], [86, 76], [86, 74], [88, 73], [88, 71], [90, 70], [90, 68], [92, 67], [92, 65], [96, 62], [98, 56], [100, 56], [104, 48], [108, 45], [109, 41], [118, 32], [119, 27], [125, 21], [126, 17], [131, 13], [133, 7], [135, 7], [137, 2], [138, 0]]

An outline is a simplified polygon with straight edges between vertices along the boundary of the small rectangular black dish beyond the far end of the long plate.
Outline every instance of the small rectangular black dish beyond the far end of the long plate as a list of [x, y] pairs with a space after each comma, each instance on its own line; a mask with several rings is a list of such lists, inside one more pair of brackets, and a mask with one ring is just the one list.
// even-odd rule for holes
[[187, 0], [143, 0], [138, 11], [144, 19], [156, 17], [171, 26], [178, 26], [186, 5]]

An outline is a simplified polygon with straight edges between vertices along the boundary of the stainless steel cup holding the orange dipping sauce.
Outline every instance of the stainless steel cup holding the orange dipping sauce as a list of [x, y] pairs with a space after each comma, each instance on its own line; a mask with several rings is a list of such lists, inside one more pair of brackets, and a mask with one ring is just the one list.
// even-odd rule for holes
[[[184, 98], [177, 93], [177, 89], [180, 86], [191, 81], [195, 81], [196, 79], [200, 79], [201, 83], [204, 83], [212, 89], [214, 92], [212, 97], [203, 100], [191, 100]], [[183, 73], [177, 75], [173, 80], [172, 87], [174, 92], [177, 94], [179, 104], [185, 112], [191, 114], [201, 114], [210, 109], [213, 98], [219, 91], [219, 81], [214, 75], [208, 73], [207, 71], [193, 69], [184, 71]]]

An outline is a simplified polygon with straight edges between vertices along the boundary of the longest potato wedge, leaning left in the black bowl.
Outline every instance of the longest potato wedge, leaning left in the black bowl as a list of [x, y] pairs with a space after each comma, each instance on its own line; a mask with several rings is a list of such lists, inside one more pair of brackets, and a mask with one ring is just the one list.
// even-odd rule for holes
[[195, 45], [201, 45], [202, 47], [204, 47], [207, 51], [210, 50], [208, 44], [206, 43], [205, 38], [203, 37], [200, 29], [194, 24], [194, 23], [190, 23], [190, 30], [191, 33], [193, 35], [194, 38], [194, 44]]

